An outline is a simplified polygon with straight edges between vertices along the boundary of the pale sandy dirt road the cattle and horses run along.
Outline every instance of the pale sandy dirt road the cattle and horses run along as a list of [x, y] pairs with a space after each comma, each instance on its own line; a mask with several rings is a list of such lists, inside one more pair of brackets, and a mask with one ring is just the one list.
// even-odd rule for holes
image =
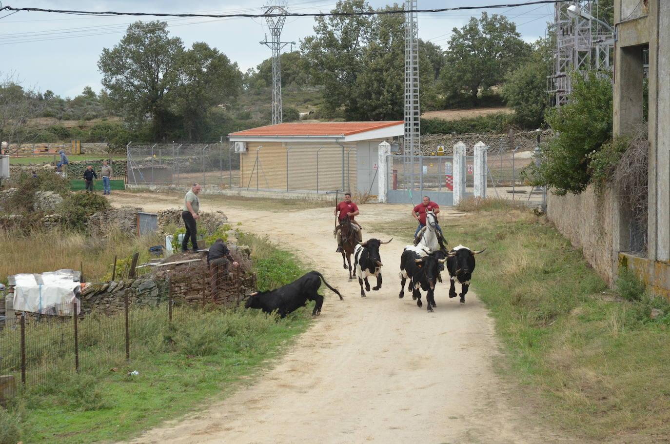
[[[145, 211], [176, 207], [174, 198], [155, 194], [112, 198], [115, 205], [144, 202]], [[448, 284], [438, 284], [434, 313], [411, 297], [398, 298], [402, 242], [381, 247], [383, 288], [361, 298], [358, 282], [348, 281], [334, 253], [332, 211], [278, 218], [201, 201], [203, 211], [220, 209], [231, 221], [243, 221], [243, 229], [302, 252], [344, 300], [324, 289], [321, 317], [257, 384], [133, 443], [569, 442], [544, 429], [529, 406], [513, 401], [513, 388], [494, 372], [499, 351], [493, 323], [472, 290], [459, 304], [448, 298]], [[362, 205], [360, 211], [364, 228], [409, 217], [406, 205]], [[449, 212], [443, 211], [443, 221]], [[364, 237], [388, 236], [367, 229]]]

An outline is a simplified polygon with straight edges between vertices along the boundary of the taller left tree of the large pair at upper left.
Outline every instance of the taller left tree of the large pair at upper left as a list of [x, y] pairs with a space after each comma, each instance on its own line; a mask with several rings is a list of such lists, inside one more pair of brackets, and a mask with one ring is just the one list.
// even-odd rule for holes
[[137, 21], [113, 49], [103, 48], [98, 69], [109, 94], [109, 104], [127, 123], [150, 121], [159, 140], [175, 116], [172, 95], [178, 86], [178, 60], [184, 52], [180, 38], [170, 38], [165, 21]]

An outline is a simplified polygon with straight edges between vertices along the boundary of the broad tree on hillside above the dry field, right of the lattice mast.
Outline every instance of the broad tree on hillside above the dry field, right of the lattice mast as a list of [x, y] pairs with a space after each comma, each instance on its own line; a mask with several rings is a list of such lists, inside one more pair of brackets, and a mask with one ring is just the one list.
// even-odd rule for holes
[[531, 53], [521, 40], [514, 23], [504, 15], [486, 12], [470, 18], [460, 30], [454, 28], [441, 70], [441, 82], [448, 95], [465, 93], [476, 105], [480, 89], [502, 83], [511, 68], [519, 66]]

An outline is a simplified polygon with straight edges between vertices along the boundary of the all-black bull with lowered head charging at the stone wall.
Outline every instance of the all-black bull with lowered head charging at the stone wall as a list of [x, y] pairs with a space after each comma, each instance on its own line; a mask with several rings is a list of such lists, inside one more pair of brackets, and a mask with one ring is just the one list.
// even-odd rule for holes
[[320, 272], [312, 271], [275, 290], [249, 294], [245, 308], [261, 309], [265, 313], [272, 313], [276, 310], [279, 316], [285, 317], [299, 307], [306, 306], [308, 300], [314, 300], [316, 302], [312, 316], [318, 316], [321, 314], [321, 307], [324, 304], [324, 296], [318, 293], [322, 280], [330, 290], [340, 296], [340, 300], [343, 299], [342, 294], [336, 288], [328, 285]]

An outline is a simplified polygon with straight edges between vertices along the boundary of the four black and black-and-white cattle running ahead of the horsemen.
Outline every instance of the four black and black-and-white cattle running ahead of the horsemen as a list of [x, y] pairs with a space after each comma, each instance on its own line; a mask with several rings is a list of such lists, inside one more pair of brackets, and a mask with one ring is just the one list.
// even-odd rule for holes
[[[393, 240], [393, 237], [385, 242], [373, 238], [357, 243], [355, 246], [354, 270], [355, 276], [358, 278], [358, 284], [360, 285], [361, 297], [365, 297], [365, 292], [370, 291], [370, 283], [368, 282], [370, 276], [377, 278], [377, 285], [372, 290], [379, 290], [381, 288], [381, 268], [383, 264], [379, 254], [379, 247], [391, 242], [391, 240]], [[461, 285], [461, 292], [458, 296], [460, 296], [460, 302], [464, 304], [465, 295], [468, 292], [470, 280], [472, 279], [472, 272], [474, 272], [474, 256], [483, 251], [484, 249], [474, 251], [463, 245], [458, 245], [458, 247], [450, 251], [444, 247], [433, 251], [423, 241], [417, 246], [407, 245], [403, 249], [400, 259], [399, 298], [405, 296], [405, 283], [409, 281], [407, 290], [411, 290], [412, 298], [417, 301], [417, 306], [423, 307], [423, 303], [421, 302], [421, 290], [423, 290], [426, 292], [427, 309], [428, 311], [433, 311], [433, 307], [435, 307], [435, 298], [433, 297], [435, 284], [442, 282], [440, 273], [444, 271], [446, 264], [450, 276], [449, 297], [454, 298], [457, 296], [454, 283], [458, 281]], [[347, 268], [346, 265], [344, 268]], [[308, 300], [314, 300], [315, 304], [312, 316], [318, 316], [324, 303], [324, 296], [318, 294], [322, 280], [330, 290], [342, 299], [342, 294], [336, 288], [330, 286], [322, 274], [312, 271], [290, 284], [286, 284], [275, 290], [250, 294], [245, 307], [247, 309], [261, 309], [265, 313], [277, 311], [279, 316], [283, 318], [299, 307], [306, 306]], [[365, 284], [365, 290], [363, 290], [363, 283]]]

